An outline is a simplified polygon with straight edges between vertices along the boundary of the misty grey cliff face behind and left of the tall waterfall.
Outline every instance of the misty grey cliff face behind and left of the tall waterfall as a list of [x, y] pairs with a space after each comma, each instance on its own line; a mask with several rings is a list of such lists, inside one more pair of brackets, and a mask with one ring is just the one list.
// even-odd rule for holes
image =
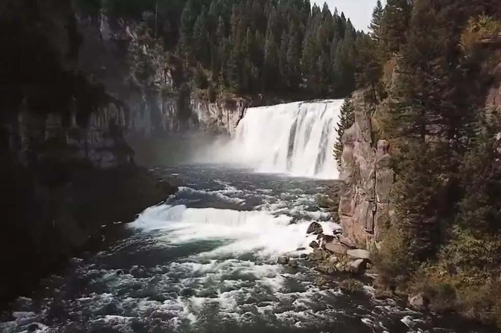
[[193, 70], [166, 54], [141, 24], [79, 20], [79, 67], [128, 106], [128, 128], [146, 137], [203, 131], [232, 134], [247, 107], [240, 98], [217, 99], [191, 87]]

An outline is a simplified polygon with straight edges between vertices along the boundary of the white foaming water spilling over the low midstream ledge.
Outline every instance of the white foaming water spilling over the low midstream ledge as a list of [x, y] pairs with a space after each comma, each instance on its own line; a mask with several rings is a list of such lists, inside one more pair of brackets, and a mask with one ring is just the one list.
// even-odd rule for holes
[[[162, 205], [146, 209], [129, 227], [160, 233], [158, 239], [170, 244], [208, 239], [227, 241], [212, 250], [212, 254], [254, 253], [262, 257], [277, 257], [307, 247], [314, 238], [306, 237], [311, 221], [291, 223], [291, 220], [290, 216], [266, 211]], [[320, 223], [326, 233], [336, 227], [329, 222]]]

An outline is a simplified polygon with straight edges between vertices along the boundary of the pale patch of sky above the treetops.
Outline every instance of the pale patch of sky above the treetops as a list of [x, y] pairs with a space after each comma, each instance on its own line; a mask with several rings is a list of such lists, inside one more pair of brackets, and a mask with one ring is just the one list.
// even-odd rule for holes
[[[376, 5], [376, 0], [314, 0], [320, 8], [324, 6], [324, 2], [329, 5], [329, 9], [344, 12], [346, 18], [350, 19], [356, 30], [368, 31], [368, 25], [371, 22], [372, 10]], [[386, 3], [386, 0], [381, 0], [381, 3]]]

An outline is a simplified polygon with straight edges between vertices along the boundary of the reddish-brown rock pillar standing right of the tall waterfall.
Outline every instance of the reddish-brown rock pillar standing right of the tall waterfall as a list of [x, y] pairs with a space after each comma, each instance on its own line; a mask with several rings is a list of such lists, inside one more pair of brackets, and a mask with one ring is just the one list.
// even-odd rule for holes
[[369, 106], [363, 93], [353, 95], [355, 123], [341, 138], [340, 199], [338, 214], [343, 233], [358, 247], [370, 249], [381, 240], [388, 221], [393, 184], [388, 143], [374, 145]]

